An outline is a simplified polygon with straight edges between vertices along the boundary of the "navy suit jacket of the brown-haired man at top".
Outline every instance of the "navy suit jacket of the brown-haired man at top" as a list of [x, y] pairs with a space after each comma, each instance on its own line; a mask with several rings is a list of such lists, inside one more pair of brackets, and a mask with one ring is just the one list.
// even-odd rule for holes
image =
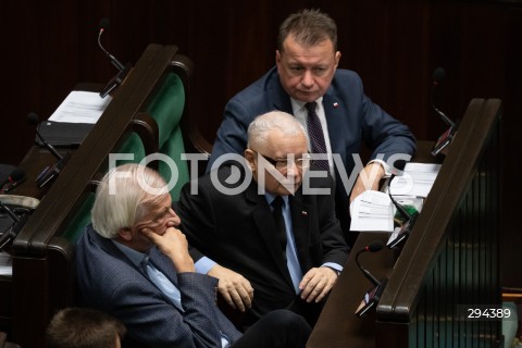
[[[336, 71], [323, 97], [323, 107], [332, 152], [340, 156], [348, 177], [355, 167], [352, 154], [359, 154], [363, 144], [373, 151], [370, 160], [378, 153], [383, 153], [386, 161], [394, 153], [413, 154], [415, 151], [415, 139], [409, 128], [364, 95], [362, 82], [352, 71]], [[293, 114], [290, 98], [281, 85], [276, 67], [228, 101], [207, 171], [222, 154], [243, 154], [247, 146], [248, 125], [256, 116], [273, 110]], [[335, 177], [337, 217], [347, 234], [351, 187], [344, 187], [337, 167]]]

